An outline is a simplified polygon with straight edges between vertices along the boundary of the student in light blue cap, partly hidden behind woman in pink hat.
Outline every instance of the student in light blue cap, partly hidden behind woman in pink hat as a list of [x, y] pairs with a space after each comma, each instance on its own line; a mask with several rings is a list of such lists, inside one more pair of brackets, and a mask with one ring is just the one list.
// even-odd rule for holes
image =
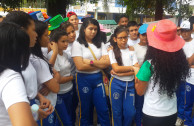
[[[143, 24], [140, 26], [138, 30], [140, 42], [133, 46], [135, 49], [135, 54], [137, 56], [138, 64], [140, 66], [143, 64], [145, 54], [147, 51], [147, 45], [148, 45], [147, 28], [148, 28], [148, 24]], [[143, 100], [144, 100], [144, 96], [139, 96], [137, 95], [137, 93], [135, 93], [135, 108], [136, 108], [135, 123], [136, 123], [136, 126], [141, 126]]]

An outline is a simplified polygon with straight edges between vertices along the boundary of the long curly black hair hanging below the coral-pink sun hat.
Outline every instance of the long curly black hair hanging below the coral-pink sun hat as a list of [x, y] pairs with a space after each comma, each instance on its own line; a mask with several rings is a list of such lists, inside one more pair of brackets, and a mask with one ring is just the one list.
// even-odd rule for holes
[[182, 49], [165, 52], [148, 46], [145, 61], [151, 60], [154, 87], [159, 84], [159, 94], [166, 93], [172, 98], [181, 81], [189, 76], [189, 64]]

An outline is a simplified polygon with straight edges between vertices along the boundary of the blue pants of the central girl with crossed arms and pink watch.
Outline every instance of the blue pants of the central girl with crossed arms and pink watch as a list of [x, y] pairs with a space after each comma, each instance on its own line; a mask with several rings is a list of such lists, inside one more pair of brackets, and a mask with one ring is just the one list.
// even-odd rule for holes
[[91, 123], [92, 104], [96, 107], [101, 126], [110, 126], [109, 112], [102, 73], [76, 75], [77, 93], [80, 101], [79, 126]]

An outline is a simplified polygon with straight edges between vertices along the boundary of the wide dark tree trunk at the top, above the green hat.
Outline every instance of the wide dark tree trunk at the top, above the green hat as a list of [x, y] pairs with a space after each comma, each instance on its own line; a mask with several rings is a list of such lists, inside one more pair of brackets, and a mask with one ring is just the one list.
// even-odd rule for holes
[[63, 17], [66, 17], [66, 8], [70, 0], [47, 0], [46, 2], [49, 16], [54, 17], [57, 14], [61, 14]]

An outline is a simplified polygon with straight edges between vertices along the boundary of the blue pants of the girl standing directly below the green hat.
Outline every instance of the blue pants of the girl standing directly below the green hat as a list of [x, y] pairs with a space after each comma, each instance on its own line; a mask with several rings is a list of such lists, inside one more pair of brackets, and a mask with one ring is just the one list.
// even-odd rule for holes
[[57, 115], [57, 126], [73, 126], [73, 90], [65, 94], [57, 94], [57, 104], [55, 106]]

